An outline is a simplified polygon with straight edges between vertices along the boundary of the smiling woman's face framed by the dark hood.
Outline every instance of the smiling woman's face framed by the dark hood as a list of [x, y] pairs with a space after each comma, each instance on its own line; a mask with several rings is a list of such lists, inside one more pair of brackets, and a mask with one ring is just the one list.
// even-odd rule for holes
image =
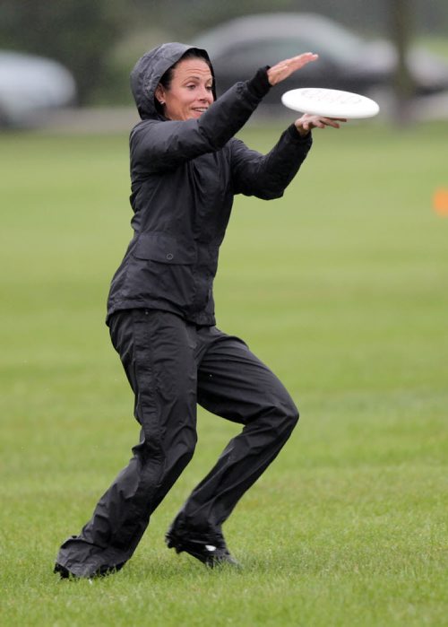
[[200, 118], [213, 102], [213, 77], [200, 58], [180, 61], [174, 68], [169, 89], [158, 85], [155, 96], [164, 103], [165, 117], [172, 120]]

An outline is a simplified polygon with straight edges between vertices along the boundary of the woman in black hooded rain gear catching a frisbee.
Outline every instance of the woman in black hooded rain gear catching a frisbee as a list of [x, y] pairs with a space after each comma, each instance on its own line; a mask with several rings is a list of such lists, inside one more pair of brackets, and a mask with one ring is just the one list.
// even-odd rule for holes
[[222, 523], [288, 440], [297, 408], [280, 380], [240, 339], [215, 327], [212, 282], [233, 197], [277, 198], [311, 146], [310, 130], [337, 121], [304, 115], [266, 156], [234, 138], [271, 85], [314, 61], [306, 53], [262, 68], [215, 102], [204, 50], [169, 43], [134, 67], [142, 121], [130, 137], [134, 239], [112, 280], [108, 326], [134, 390], [140, 443], [55, 571], [93, 577], [119, 570], [151, 513], [190, 461], [196, 404], [239, 422], [177, 514], [168, 547], [215, 566], [237, 563]]

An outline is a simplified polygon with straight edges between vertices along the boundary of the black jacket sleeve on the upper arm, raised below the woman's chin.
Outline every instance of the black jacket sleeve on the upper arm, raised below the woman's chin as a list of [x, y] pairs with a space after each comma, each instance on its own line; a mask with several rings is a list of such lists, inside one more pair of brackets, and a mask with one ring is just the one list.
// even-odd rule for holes
[[185, 121], [143, 120], [130, 137], [134, 173], [171, 170], [206, 152], [220, 150], [237, 133], [271, 85], [266, 68], [246, 83], [236, 83], [201, 118]]

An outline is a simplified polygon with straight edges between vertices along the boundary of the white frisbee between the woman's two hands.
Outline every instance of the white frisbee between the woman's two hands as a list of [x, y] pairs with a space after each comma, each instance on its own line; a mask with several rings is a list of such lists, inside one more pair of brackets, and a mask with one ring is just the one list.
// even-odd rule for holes
[[380, 110], [375, 100], [358, 93], [317, 87], [286, 91], [281, 101], [289, 109], [325, 118], [373, 118]]

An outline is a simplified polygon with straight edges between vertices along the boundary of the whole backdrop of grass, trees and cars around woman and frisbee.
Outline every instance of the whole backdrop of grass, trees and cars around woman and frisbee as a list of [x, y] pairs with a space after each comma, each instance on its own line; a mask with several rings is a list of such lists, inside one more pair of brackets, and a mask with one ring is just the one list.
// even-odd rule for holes
[[[447, 33], [446, 0], [1, 0], [2, 625], [446, 625]], [[166, 40], [205, 46], [218, 91], [311, 49], [297, 84], [382, 111], [316, 130], [283, 198], [237, 196], [220, 249], [218, 324], [301, 412], [228, 521], [244, 579], [201, 579], [163, 543], [237, 432], [200, 410], [129, 569], [67, 588], [57, 548], [138, 438], [104, 319], [132, 237], [129, 73]], [[293, 84], [248, 146], [296, 118], [279, 104]]]

